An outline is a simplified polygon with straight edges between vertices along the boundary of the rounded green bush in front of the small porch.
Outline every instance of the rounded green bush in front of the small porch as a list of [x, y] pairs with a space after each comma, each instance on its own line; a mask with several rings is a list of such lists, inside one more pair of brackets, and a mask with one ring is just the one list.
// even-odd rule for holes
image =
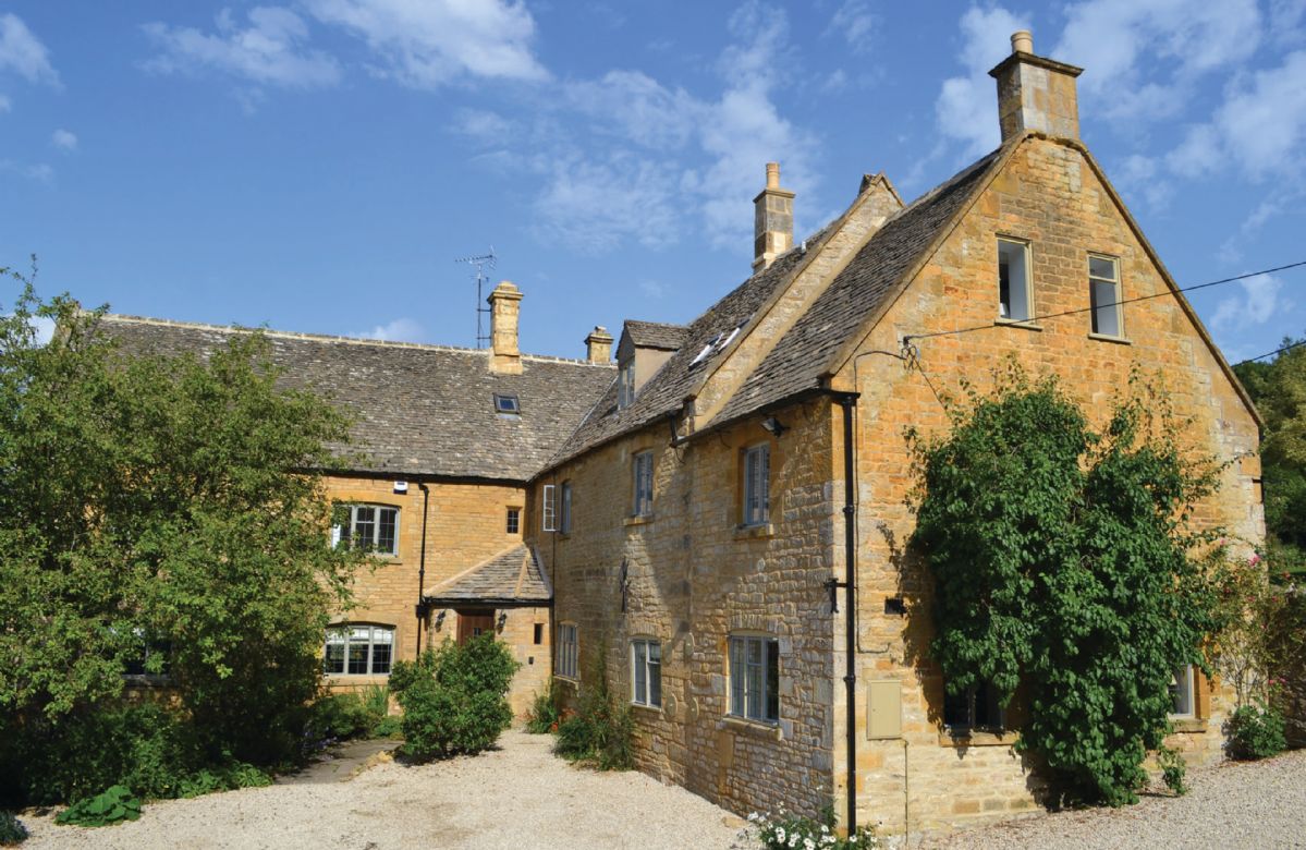
[[445, 641], [397, 662], [390, 691], [404, 709], [401, 753], [414, 761], [488, 749], [512, 723], [508, 687], [520, 665], [494, 635]]

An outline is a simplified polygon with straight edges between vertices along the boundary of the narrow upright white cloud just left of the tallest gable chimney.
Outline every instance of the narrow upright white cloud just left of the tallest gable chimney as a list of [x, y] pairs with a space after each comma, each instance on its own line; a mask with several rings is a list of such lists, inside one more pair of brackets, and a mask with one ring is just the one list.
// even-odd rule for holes
[[964, 145], [970, 158], [987, 153], [1002, 141], [998, 128], [998, 94], [989, 69], [1011, 52], [1011, 34], [1028, 29], [1028, 20], [1002, 7], [970, 7], [961, 16], [961, 61], [965, 76], [943, 81], [934, 104], [939, 132]]

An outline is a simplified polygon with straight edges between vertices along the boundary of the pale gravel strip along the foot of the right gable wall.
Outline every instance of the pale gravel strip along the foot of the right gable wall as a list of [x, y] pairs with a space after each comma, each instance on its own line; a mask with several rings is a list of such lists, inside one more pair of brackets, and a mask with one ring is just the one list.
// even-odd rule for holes
[[1191, 770], [1185, 796], [1040, 815], [956, 833], [922, 850], [1268, 850], [1306, 847], [1306, 749], [1260, 763]]

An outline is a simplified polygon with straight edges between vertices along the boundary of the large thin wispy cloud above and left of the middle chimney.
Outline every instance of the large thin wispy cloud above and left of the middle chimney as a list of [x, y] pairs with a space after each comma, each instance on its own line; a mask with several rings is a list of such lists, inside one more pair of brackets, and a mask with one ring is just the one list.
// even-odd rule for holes
[[744, 248], [765, 162], [781, 162], [786, 188], [802, 193], [812, 184], [816, 141], [784, 119], [772, 97], [790, 52], [784, 12], [748, 3], [729, 30], [717, 97], [637, 71], [563, 86], [550, 104], [558, 120], [537, 123], [526, 140], [528, 167], [547, 176], [535, 202], [538, 235], [602, 252], [623, 242], [662, 248], [696, 228], [714, 245]]

